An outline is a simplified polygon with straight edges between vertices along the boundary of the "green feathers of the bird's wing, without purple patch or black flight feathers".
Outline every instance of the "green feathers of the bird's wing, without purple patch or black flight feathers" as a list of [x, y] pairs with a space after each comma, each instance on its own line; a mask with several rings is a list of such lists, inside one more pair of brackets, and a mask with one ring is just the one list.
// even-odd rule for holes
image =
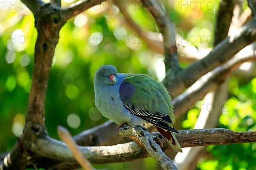
[[175, 122], [171, 96], [161, 82], [145, 74], [128, 75], [123, 81], [135, 87], [131, 98], [126, 101], [130, 107], [134, 105], [151, 113], [169, 114], [172, 122]]

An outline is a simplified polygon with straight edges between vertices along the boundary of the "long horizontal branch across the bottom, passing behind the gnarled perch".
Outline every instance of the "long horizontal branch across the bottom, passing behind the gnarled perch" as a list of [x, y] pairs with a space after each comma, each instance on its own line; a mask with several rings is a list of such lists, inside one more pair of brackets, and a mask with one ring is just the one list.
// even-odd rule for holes
[[[129, 129], [137, 128], [128, 125]], [[124, 128], [124, 127], [121, 127]], [[234, 132], [227, 129], [202, 129], [202, 130], [180, 130], [175, 134], [181, 147], [195, 147], [216, 144], [234, 144], [256, 142], [256, 132]], [[130, 136], [132, 136], [131, 134]], [[73, 154], [67, 146], [60, 141], [49, 138], [46, 134], [40, 135], [41, 139], [36, 139], [31, 147], [31, 151], [38, 156], [49, 157], [70, 163], [77, 163]], [[168, 149], [169, 144], [160, 133], [153, 133], [154, 141], [160, 145], [163, 151]], [[79, 147], [83, 156], [93, 164], [116, 163], [133, 161], [148, 157], [145, 149], [142, 149], [136, 142], [117, 144], [113, 146]]]

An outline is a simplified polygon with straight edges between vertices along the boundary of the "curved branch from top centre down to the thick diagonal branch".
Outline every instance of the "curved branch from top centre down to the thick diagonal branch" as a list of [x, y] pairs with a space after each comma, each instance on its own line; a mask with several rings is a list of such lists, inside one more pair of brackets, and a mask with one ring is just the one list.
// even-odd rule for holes
[[163, 34], [166, 75], [171, 74], [170, 72], [173, 70], [180, 71], [175, 26], [169, 19], [166, 9], [158, 0], [141, 0], [141, 2], [152, 14]]

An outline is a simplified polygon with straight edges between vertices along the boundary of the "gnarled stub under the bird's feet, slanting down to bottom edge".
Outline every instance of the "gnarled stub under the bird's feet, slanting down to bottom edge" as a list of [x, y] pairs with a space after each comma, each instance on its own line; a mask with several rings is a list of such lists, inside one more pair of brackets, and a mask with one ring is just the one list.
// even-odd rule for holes
[[145, 147], [149, 155], [158, 161], [164, 170], [177, 170], [173, 161], [166, 156], [161, 147], [154, 142], [151, 133], [149, 133], [145, 127], [127, 124], [122, 126], [122, 128], [119, 128], [119, 134], [121, 136], [135, 138], [135, 142], [139, 139], [139, 142]]

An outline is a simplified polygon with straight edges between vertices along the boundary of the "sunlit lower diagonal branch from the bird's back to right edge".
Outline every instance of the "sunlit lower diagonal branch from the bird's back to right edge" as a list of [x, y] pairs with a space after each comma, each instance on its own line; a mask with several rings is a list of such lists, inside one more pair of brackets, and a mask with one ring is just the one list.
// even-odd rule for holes
[[177, 119], [183, 113], [191, 109], [191, 107], [195, 105], [198, 100], [203, 99], [209, 91], [216, 90], [218, 85], [229, 77], [230, 73], [242, 63], [255, 60], [256, 51], [245, 57], [234, 57], [226, 64], [215, 68], [209, 74], [198, 79], [198, 81], [190, 86], [185, 92], [173, 99], [175, 118]]

